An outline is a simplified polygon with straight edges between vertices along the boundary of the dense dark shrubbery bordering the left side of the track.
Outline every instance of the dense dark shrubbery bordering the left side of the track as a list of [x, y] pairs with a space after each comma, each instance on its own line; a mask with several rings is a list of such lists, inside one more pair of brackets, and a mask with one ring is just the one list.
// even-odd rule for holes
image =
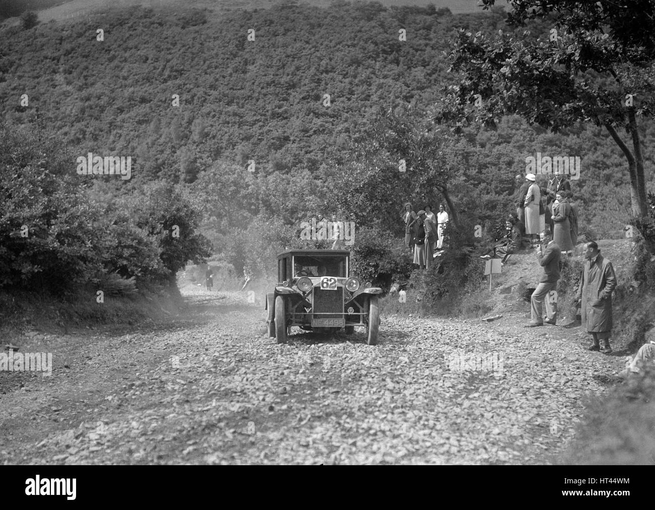
[[184, 192], [159, 184], [120, 194], [103, 177], [88, 189], [75, 168], [54, 137], [0, 126], [1, 286], [64, 292], [113, 273], [162, 281], [210, 254]]

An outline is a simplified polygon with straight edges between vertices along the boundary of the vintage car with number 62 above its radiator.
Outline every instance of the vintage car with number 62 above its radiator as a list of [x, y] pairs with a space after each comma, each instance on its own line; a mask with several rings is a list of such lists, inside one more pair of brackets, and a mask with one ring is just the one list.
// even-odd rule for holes
[[317, 333], [343, 329], [346, 335], [365, 326], [367, 343], [375, 345], [381, 293], [370, 282], [350, 276], [350, 251], [284, 251], [278, 255], [278, 285], [266, 295], [269, 337], [284, 344], [292, 326]]

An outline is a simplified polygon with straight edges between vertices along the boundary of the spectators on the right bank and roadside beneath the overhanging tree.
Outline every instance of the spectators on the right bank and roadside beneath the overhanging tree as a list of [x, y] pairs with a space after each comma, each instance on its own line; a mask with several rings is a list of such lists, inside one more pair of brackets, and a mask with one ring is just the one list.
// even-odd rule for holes
[[[536, 175], [516, 176], [516, 212], [510, 213], [506, 235], [496, 242], [482, 259], [500, 258], [501, 264], [519, 249], [537, 247], [542, 271], [531, 295], [531, 320], [525, 327], [557, 325], [557, 282], [561, 255], [573, 255], [578, 240], [578, 210], [572, 203], [568, 175], [553, 175], [545, 187], [536, 183]], [[543, 243], [543, 245], [542, 245]], [[543, 246], [543, 247], [542, 247]], [[612, 263], [596, 242], [584, 244], [585, 258], [574, 306], [580, 308], [583, 327], [591, 337], [591, 351], [612, 353], [612, 292], [616, 274]], [[544, 310], [545, 308], [545, 310]], [[645, 344], [618, 376], [626, 378], [639, 372], [642, 363], [655, 363], [655, 344]]]

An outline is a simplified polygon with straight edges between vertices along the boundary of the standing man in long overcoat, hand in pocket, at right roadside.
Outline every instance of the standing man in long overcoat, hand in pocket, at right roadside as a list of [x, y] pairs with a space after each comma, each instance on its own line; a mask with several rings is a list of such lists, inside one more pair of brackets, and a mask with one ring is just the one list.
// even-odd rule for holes
[[582, 325], [587, 327], [593, 338], [589, 350], [601, 350], [599, 341], [603, 340], [605, 354], [610, 354], [612, 291], [616, 287], [616, 275], [612, 263], [601, 255], [595, 242], [588, 242], [584, 246], [584, 256], [587, 260], [578, 285], [576, 303], [581, 304]]

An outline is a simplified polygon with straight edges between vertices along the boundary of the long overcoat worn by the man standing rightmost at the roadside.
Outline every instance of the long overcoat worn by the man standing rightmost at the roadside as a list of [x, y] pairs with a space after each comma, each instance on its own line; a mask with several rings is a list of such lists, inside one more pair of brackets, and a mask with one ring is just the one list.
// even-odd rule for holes
[[612, 263], [600, 253], [595, 261], [586, 261], [578, 285], [578, 299], [582, 301], [582, 325], [591, 333], [612, 331], [612, 291], [616, 275]]

